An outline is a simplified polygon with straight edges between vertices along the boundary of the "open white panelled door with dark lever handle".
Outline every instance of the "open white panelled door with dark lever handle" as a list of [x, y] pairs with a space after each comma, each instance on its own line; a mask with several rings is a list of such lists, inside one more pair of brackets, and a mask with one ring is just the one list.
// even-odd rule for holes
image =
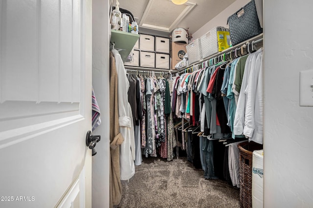
[[0, 0], [0, 208], [91, 207], [91, 0]]

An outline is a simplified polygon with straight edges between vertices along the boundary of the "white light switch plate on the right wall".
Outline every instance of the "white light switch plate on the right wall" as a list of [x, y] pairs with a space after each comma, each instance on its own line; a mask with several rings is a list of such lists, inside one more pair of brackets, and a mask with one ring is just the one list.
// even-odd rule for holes
[[300, 106], [313, 106], [313, 70], [300, 72]]

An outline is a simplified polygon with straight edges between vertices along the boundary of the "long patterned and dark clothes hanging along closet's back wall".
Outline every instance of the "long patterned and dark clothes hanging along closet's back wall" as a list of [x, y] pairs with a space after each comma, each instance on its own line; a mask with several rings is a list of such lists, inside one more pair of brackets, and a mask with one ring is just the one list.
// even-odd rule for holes
[[150, 76], [137, 75], [138, 71], [133, 70], [128, 72], [131, 86], [128, 100], [135, 125], [134, 164], [141, 165], [142, 154], [145, 157], [160, 155], [170, 161], [176, 146], [170, 101], [172, 79], [164, 78], [164, 73], [156, 77], [155, 72], [150, 72]]

